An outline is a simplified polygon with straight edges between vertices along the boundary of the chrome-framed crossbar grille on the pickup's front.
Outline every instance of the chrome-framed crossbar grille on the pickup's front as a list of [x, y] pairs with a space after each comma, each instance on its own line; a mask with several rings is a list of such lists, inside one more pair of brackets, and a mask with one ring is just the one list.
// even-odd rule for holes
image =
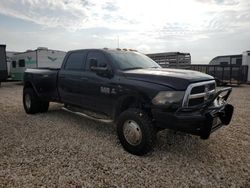
[[215, 94], [215, 81], [190, 84], [186, 90], [182, 106], [194, 107], [211, 100]]

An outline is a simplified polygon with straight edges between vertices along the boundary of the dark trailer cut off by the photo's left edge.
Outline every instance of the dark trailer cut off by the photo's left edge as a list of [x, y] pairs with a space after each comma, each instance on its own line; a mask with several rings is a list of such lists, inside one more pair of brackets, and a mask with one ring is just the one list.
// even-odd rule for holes
[[7, 63], [6, 63], [6, 45], [0, 45], [0, 85], [8, 77]]

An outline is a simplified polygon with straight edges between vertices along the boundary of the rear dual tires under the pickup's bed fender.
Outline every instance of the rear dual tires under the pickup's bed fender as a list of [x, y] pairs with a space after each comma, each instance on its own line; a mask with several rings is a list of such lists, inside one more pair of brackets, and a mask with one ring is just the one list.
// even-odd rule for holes
[[41, 101], [32, 88], [24, 88], [23, 107], [27, 114], [47, 112], [49, 108], [49, 102]]

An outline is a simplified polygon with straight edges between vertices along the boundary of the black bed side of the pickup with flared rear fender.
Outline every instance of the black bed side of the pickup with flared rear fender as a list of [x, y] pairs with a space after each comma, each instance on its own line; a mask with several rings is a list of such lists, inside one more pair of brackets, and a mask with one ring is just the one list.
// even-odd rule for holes
[[60, 97], [57, 90], [58, 72], [56, 68], [27, 69], [24, 74], [24, 82], [32, 80], [36, 93], [44, 100], [59, 102]]

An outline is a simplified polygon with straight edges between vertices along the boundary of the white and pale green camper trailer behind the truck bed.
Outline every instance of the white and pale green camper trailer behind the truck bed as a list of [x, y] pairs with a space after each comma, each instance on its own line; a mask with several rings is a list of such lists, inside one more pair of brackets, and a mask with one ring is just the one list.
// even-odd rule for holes
[[11, 79], [22, 81], [27, 68], [60, 68], [66, 52], [39, 47], [15, 53], [11, 61]]

